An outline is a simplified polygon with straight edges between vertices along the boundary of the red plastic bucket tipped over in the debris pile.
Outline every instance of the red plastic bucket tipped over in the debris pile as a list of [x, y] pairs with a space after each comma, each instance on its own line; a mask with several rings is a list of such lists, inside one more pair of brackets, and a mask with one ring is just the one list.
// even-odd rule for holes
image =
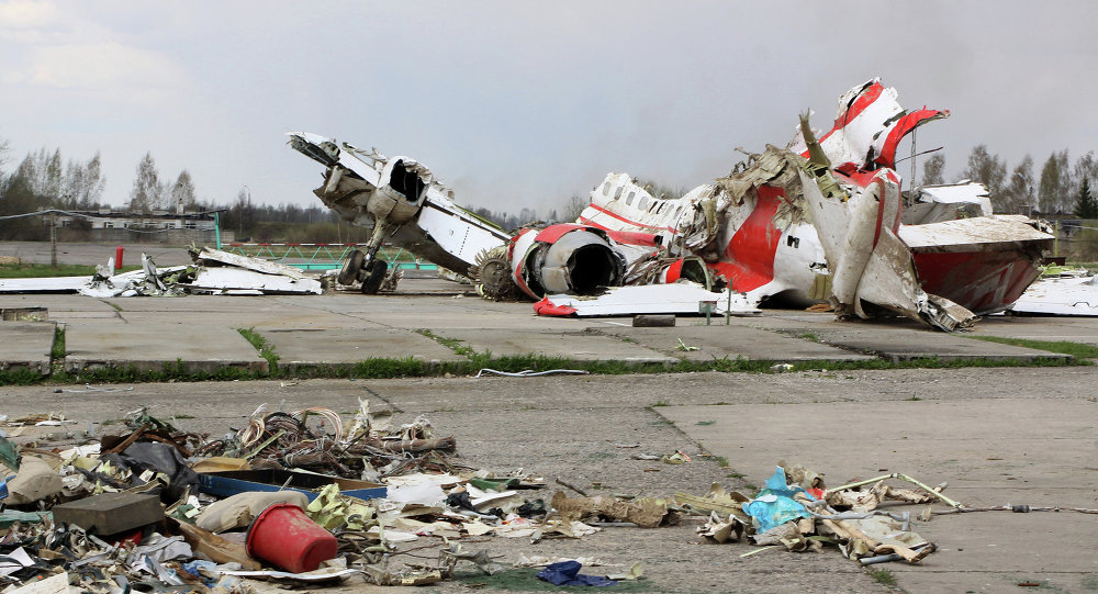
[[313, 571], [339, 549], [332, 533], [292, 503], [268, 505], [251, 522], [244, 542], [251, 557], [291, 573]]

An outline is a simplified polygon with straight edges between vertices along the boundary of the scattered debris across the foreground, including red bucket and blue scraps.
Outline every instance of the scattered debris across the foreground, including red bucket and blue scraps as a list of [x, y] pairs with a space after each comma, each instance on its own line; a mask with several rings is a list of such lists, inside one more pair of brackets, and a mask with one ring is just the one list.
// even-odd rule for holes
[[[117, 435], [98, 439], [93, 427], [81, 432], [59, 415], [0, 421], [0, 462], [10, 469], [0, 475], [0, 582], [20, 594], [70, 585], [103, 594], [256, 593], [279, 590], [269, 580], [300, 585], [352, 578], [424, 585], [452, 578], [459, 563], [503, 571], [486, 550], [463, 547], [473, 537], [538, 542], [606, 526], [656, 529], [686, 516], [707, 519], [697, 529], [705, 540], [763, 547], [746, 554], [836, 545], [863, 564], [915, 563], [933, 543], [910, 529], [910, 513], [885, 512], [883, 502], [950, 506], [934, 514], [990, 509], [965, 508], [942, 495], [944, 484], [930, 487], [895, 473], [826, 489], [819, 474], [799, 466], [788, 473], [778, 467], [754, 497], [716, 484], [704, 496], [587, 496], [560, 479], [580, 496], [558, 491], [547, 497], [542, 479], [462, 466], [453, 456], [457, 440], [436, 437], [427, 418], [396, 424], [366, 401], [349, 421], [322, 407], [261, 406], [243, 428], [214, 438], [180, 430], [145, 408], [126, 415]], [[66, 449], [43, 447], [57, 439]], [[930, 515], [928, 506], [919, 519]], [[410, 545], [421, 539], [430, 543]], [[559, 585], [643, 579], [639, 563], [626, 572], [580, 573], [600, 564], [514, 560], [514, 567], [544, 568], [537, 578]]]

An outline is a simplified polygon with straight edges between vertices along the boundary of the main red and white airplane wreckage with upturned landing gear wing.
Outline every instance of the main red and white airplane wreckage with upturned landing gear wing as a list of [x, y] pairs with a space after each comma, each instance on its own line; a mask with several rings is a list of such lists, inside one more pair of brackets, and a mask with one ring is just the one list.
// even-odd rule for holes
[[[376, 293], [393, 272], [382, 243], [467, 273], [492, 299], [526, 295], [541, 315], [757, 312], [764, 300], [829, 301], [840, 317], [903, 315], [943, 330], [1001, 312], [1040, 274], [1042, 221], [991, 213], [979, 183], [901, 191], [899, 142], [948, 111], [904, 110], [878, 79], [839, 99], [832, 127], [808, 116], [676, 199], [609, 173], [574, 223], [504, 233], [453, 202], [430, 170], [310, 133], [298, 152], [325, 166], [314, 193], [372, 227], [338, 276]], [[391, 279], [390, 279], [391, 280]]]

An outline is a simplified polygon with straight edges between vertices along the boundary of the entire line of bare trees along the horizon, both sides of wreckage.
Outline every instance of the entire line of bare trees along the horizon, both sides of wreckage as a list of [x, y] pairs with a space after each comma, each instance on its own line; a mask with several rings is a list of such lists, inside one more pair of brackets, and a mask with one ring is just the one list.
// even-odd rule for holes
[[[102, 173], [102, 159], [97, 152], [87, 160], [65, 158], [59, 148], [32, 150], [10, 171], [10, 145], [0, 139], [0, 215], [36, 212], [45, 209], [96, 211], [105, 208], [103, 193], [107, 179]], [[971, 179], [987, 186], [997, 213], [1028, 215], [1074, 215], [1098, 218], [1098, 200], [1094, 188], [1098, 184], [1098, 158], [1087, 153], [1074, 160], [1067, 149], [1054, 152], [1044, 161], [1040, 175], [1027, 155], [1010, 169], [986, 145], [977, 145], [968, 155], [965, 169], [954, 179]], [[938, 153], [922, 165], [922, 184], [945, 182], [945, 157]], [[677, 198], [685, 189], [670, 188], [657, 182], [645, 182], [653, 195]], [[522, 225], [542, 222], [571, 222], [586, 206], [585, 197], [573, 195], [542, 217], [537, 211], [524, 208], [517, 213], [485, 208], [470, 212], [514, 229]], [[243, 187], [235, 200], [222, 202], [199, 199], [195, 184], [187, 169], [172, 181], [161, 176], [150, 153], [146, 153], [135, 168], [124, 210], [135, 213], [154, 211], [173, 212], [182, 205], [187, 212], [221, 211], [223, 228], [235, 232], [238, 239], [288, 242], [360, 242], [368, 237], [363, 229], [351, 227], [321, 204], [255, 204], [251, 192]], [[0, 239], [37, 238], [26, 233], [25, 220], [0, 221]], [[296, 228], [302, 227], [302, 228]]]

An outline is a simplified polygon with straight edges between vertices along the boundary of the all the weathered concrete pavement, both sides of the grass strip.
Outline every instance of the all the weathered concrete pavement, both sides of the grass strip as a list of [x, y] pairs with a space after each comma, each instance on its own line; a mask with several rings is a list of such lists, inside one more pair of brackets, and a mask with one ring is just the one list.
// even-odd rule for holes
[[[901, 320], [836, 322], [830, 314], [800, 311], [766, 311], [760, 317], [733, 318], [728, 326], [722, 321], [706, 326], [702, 318], [684, 317], [670, 328], [634, 328], [628, 318], [546, 318], [533, 315], [529, 303], [484, 301], [469, 296], [464, 288], [435, 279], [406, 279], [402, 294], [395, 296], [350, 292], [110, 300], [0, 296], [0, 307], [30, 306], [47, 307], [52, 322], [0, 323], [0, 359], [7, 363], [33, 360], [40, 369], [48, 367], [56, 322], [66, 330], [65, 367], [70, 371], [96, 366], [157, 369], [176, 362], [206, 371], [225, 366], [266, 369], [267, 361], [237, 328], [254, 328], [288, 368], [351, 366], [370, 357], [413, 357], [428, 362], [462, 358], [417, 333], [419, 328], [494, 356], [542, 354], [584, 361], [673, 362], [727, 357], [818, 360], [826, 366], [878, 357], [1026, 360], [1050, 356], [965, 335], [944, 335]], [[975, 334], [1094, 344], [1098, 321], [991, 317], [981, 321]], [[696, 350], [683, 350], [680, 340]], [[712, 471], [691, 467], [675, 479], [685, 482], [675, 483], [666, 469], [661, 469], [657, 479], [646, 469], [631, 468], [630, 462], [604, 462], [620, 456], [614, 444], [659, 428], [652, 421], [659, 413], [674, 423], [669, 426], [672, 433], [664, 435], [661, 429], [663, 441], [645, 442], [645, 447], [654, 451], [681, 448], [673, 439], [681, 432], [682, 439], [727, 458], [736, 475], [746, 475], [744, 483], [762, 484], [773, 466], [785, 459], [825, 472], [832, 485], [852, 477], [897, 471], [930, 483], [949, 481], [946, 493], [967, 505], [1098, 507], [1094, 368], [817, 370], [640, 378], [489, 382], [434, 378], [369, 385], [344, 380], [303, 382], [296, 388], [282, 388], [279, 382], [239, 382], [187, 384], [178, 388], [180, 393], [172, 384], [147, 384], [125, 395], [66, 399], [61, 394], [48, 401], [36, 394], [52, 391], [49, 386], [0, 388], [0, 393], [10, 412], [71, 407], [69, 414], [83, 411], [97, 421], [114, 418], [142, 403], [172, 406], [187, 402], [188, 414], [198, 417], [192, 423], [203, 430], [222, 430], [229, 421], [221, 418], [227, 414], [226, 396], [246, 403], [248, 411], [235, 411], [238, 416], [258, 402], [279, 402], [287, 394], [302, 405], [354, 407], [357, 397], [368, 393], [404, 411], [434, 411], [433, 416], [442, 419], [449, 415], [461, 427], [462, 436], [479, 444], [463, 446], [463, 451], [471, 450], [474, 458], [496, 464], [523, 466], [531, 452], [539, 451], [547, 457], [538, 463], [553, 472], [613, 479], [614, 484], [637, 490], [699, 491], [726, 477], [725, 471], [710, 475]], [[206, 396], [201, 395], [206, 392]], [[242, 400], [239, 394], [248, 396]], [[212, 419], [203, 421], [206, 416]], [[582, 437], [584, 432], [594, 432], [597, 439]], [[529, 441], [529, 436], [539, 437]], [[583, 449], [576, 458], [576, 448], [590, 451]], [[623, 473], [625, 470], [628, 472]], [[908, 592], [1015, 592], [1017, 584], [1031, 581], [1052, 590], [1085, 592], [1098, 587], [1094, 579], [1098, 572], [1095, 518], [1068, 512], [935, 516], [916, 529], [941, 550], [922, 567], [890, 563], [885, 569]], [[676, 535], [676, 539], [691, 538], [690, 529]], [[659, 548], [656, 540], [651, 546]], [[608, 546], [609, 541], [593, 542]], [[744, 550], [717, 554], [736, 560]], [[597, 554], [597, 550], [576, 553]], [[850, 580], [861, 580], [856, 587], [850, 586], [851, 591], [873, 587], [863, 583], [864, 574], [856, 564], [831, 553], [770, 560], [755, 556], [728, 561], [728, 571], [749, 590], [769, 587], [766, 578], [752, 573], [760, 567], [799, 575], [800, 584], [831, 591], [841, 591]], [[676, 554], [681, 560], [693, 553]], [[658, 560], [646, 561], [649, 563], [664, 574], [679, 570], [674, 562], [661, 565]], [[698, 565], [693, 571], [706, 570]]]

